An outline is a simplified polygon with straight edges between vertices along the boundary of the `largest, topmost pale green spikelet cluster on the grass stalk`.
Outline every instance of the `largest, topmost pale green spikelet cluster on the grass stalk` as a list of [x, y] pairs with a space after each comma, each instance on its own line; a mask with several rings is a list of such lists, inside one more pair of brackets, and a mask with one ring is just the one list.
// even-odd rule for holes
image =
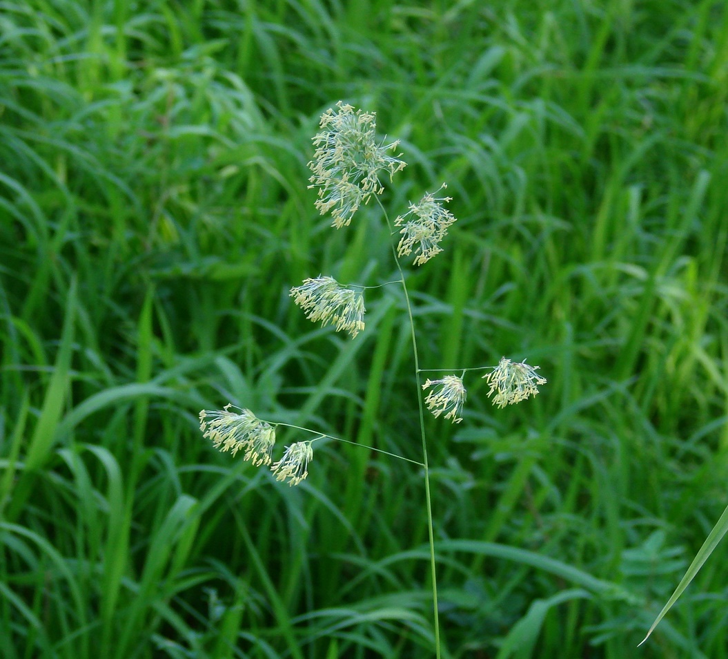
[[376, 114], [355, 111], [341, 101], [336, 107], [322, 115], [321, 131], [313, 138], [317, 148], [309, 163], [313, 172], [309, 188], [319, 189], [316, 208], [322, 215], [331, 211], [332, 226], [340, 229], [349, 225], [371, 195], [384, 191], [379, 173], [388, 172], [391, 179], [406, 163], [387, 154], [397, 148], [398, 141], [377, 143]]

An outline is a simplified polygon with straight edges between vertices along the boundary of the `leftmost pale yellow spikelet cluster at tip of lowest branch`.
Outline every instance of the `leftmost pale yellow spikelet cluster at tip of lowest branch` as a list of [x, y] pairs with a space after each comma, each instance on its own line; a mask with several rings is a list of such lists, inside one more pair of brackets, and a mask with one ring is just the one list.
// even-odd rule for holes
[[240, 414], [230, 412], [228, 403], [223, 410], [202, 410], [199, 413], [199, 429], [202, 437], [213, 441], [220, 451], [235, 455], [245, 450], [243, 459], [256, 467], [271, 464], [271, 453], [275, 443], [275, 429], [261, 421], [250, 410]]

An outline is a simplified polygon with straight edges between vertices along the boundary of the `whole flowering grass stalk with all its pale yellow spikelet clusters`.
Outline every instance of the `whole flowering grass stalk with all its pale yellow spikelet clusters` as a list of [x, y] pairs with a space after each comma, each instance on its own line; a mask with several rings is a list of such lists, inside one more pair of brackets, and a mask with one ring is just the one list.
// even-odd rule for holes
[[[352, 216], [363, 203], [367, 203], [373, 195], [381, 195], [384, 191], [381, 178], [389, 174], [389, 179], [397, 171], [405, 167], [400, 155], [392, 155], [392, 149], [397, 148], [398, 142], [386, 144], [384, 140], [376, 139], [376, 115], [371, 112], [356, 110], [341, 101], [336, 108], [328, 109], [320, 122], [320, 132], [313, 138], [316, 147], [313, 160], [309, 163], [313, 176], [309, 179], [309, 187], [317, 187], [316, 208], [321, 214], [331, 212], [333, 226], [337, 229], [349, 225]], [[467, 391], [463, 384], [465, 373], [469, 370], [480, 370], [483, 367], [465, 368], [462, 376], [444, 375], [439, 380], [429, 378], [422, 384], [419, 367], [419, 353], [417, 350], [416, 327], [411, 306], [411, 296], [408, 292], [407, 277], [403, 270], [402, 257], [410, 256], [414, 251], [414, 265], [422, 265], [435, 257], [443, 249], [440, 242], [446, 237], [448, 228], [456, 222], [456, 218], [445, 204], [451, 201], [449, 197], [438, 197], [440, 190], [446, 188], [442, 184], [435, 192], [426, 193], [418, 203], [409, 203], [408, 211], [397, 217], [392, 224], [386, 208], [379, 203], [387, 226], [392, 235], [392, 249], [400, 279], [388, 281], [387, 284], [400, 283], [406, 301], [409, 327], [411, 330], [411, 346], [414, 354], [414, 376], [417, 388], [422, 386], [419, 395], [419, 419], [422, 437], [422, 461], [415, 461], [404, 456], [397, 456], [389, 451], [368, 447], [368, 450], [386, 453], [389, 456], [408, 462], [414, 462], [424, 471], [424, 500], [427, 515], [427, 529], [430, 540], [430, 582], [432, 585], [432, 619], [434, 623], [435, 658], [443, 656], [440, 642], [440, 622], [438, 607], [438, 580], [436, 574], [435, 531], [432, 518], [432, 496], [430, 494], [430, 463], [427, 456], [427, 437], [424, 424], [424, 407], [430, 410], [435, 417], [444, 416], [454, 424], [462, 419], [462, 410], [467, 399]], [[379, 198], [377, 198], [379, 201]], [[398, 227], [394, 230], [394, 226]], [[395, 243], [398, 244], [395, 246]], [[386, 284], [382, 284], [384, 286]], [[300, 286], [290, 289], [296, 305], [306, 313], [311, 321], [321, 321], [323, 325], [333, 324], [336, 331], [346, 330], [352, 338], [364, 329], [364, 296], [360, 288], [342, 286], [330, 276], [319, 275], [316, 278], [304, 280]], [[372, 286], [379, 288], [379, 286]], [[519, 402], [538, 393], [537, 385], [544, 384], [545, 378], [537, 375], [537, 366], [528, 364], [513, 364], [510, 359], [501, 359], [492, 373], [484, 377], [491, 386], [488, 397], [493, 396], [493, 402], [499, 407]], [[438, 371], [439, 369], [435, 369]], [[427, 391], [427, 395], [424, 391]], [[493, 395], [495, 394], [495, 395]], [[242, 410], [241, 414], [228, 411], [229, 405], [223, 412], [208, 412], [203, 410], [199, 414], [200, 428], [205, 437], [210, 437], [216, 448], [221, 451], [237, 453], [245, 449], [245, 459], [253, 464], [266, 464], [272, 474], [279, 481], [296, 486], [308, 476], [308, 465], [313, 459], [312, 443], [323, 437], [331, 437], [349, 444], [333, 435], [292, 426], [290, 424], [268, 424], [256, 418], [250, 410]], [[288, 426], [299, 431], [311, 432], [315, 439], [294, 442], [285, 448], [281, 459], [272, 463], [271, 453], [275, 441], [274, 427]]]

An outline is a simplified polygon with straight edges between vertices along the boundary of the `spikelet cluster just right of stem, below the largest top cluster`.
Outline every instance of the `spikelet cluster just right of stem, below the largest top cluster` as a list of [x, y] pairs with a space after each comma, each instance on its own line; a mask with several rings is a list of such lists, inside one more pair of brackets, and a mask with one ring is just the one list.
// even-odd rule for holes
[[[435, 197], [439, 190], [428, 192], [419, 203], [410, 203], [409, 210], [395, 219], [395, 225], [403, 229], [397, 245], [397, 256], [409, 256], [415, 250], [415, 265], [422, 265], [443, 251], [440, 241], [448, 233], [448, 227], [457, 221], [456, 217], [440, 202], [450, 202], [451, 197]], [[411, 219], [407, 219], [411, 217]]]

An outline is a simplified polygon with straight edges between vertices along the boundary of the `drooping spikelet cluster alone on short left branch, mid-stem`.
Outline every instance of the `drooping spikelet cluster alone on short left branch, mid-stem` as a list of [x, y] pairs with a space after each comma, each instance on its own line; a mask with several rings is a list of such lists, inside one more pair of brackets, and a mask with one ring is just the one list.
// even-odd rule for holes
[[346, 330], [352, 338], [364, 329], [362, 292], [344, 288], [333, 277], [306, 279], [290, 289], [290, 297], [311, 321], [336, 324], [337, 332]]

